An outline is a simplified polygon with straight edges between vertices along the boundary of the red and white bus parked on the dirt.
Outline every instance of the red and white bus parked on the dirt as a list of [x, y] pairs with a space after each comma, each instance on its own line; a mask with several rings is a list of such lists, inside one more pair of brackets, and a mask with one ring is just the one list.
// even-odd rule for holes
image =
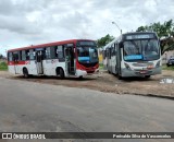
[[9, 71], [15, 74], [83, 78], [99, 71], [97, 45], [71, 39], [8, 50]]

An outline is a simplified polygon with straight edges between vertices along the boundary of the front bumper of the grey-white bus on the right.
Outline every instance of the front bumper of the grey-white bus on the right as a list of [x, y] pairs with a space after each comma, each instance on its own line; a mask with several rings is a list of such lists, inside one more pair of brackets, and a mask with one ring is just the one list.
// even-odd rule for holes
[[122, 76], [146, 76], [146, 75], [156, 75], [156, 74], [161, 74], [161, 67], [154, 68], [151, 70], [129, 70], [129, 69], [122, 69]]

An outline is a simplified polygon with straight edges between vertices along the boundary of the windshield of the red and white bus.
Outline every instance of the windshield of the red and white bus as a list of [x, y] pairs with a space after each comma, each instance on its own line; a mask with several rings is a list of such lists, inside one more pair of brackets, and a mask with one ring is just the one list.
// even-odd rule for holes
[[78, 61], [83, 63], [98, 62], [98, 54], [96, 47], [77, 47]]

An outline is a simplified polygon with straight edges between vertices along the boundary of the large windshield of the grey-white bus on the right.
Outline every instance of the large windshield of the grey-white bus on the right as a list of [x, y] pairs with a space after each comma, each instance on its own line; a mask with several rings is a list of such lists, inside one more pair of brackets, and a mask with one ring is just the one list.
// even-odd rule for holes
[[160, 58], [158, 39], [133, 39], [124, 42], [123, 45], [123, 57], [125, 61], [150, 61]]

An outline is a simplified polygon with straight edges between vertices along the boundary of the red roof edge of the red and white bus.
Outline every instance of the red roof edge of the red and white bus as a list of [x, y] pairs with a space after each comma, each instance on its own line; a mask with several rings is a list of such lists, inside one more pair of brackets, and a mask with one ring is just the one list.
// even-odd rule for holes
[[32, 45], [32, 46], [21, 47], [21, 48], [13, 48], [13, 49], [9, 49], [8, 52], [17, 51], [17, 50], [33, 49], [33, 48], [51, 47], [51, 46], [57, 46], [57, 45], [74, 44], [74, 43], [76, 43], [78, 40], [94, 42], [91, 39], [69, 39], [69, 40], [61, 40], [61, 42], [54, 42], [54, 43], [48, 43], [48, 44]]

